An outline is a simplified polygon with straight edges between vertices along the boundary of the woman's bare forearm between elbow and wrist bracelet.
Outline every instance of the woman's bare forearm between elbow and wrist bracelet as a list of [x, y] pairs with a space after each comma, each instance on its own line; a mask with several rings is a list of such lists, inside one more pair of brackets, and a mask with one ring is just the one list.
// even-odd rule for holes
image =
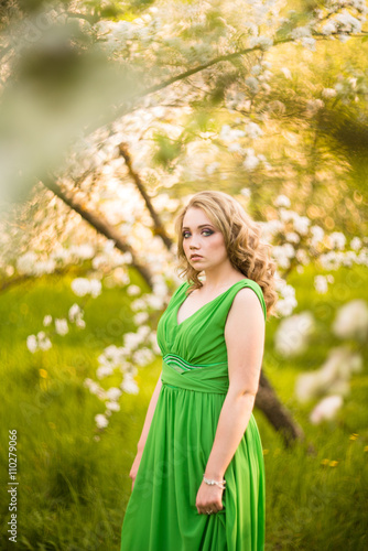
[[206, 477], [224, 478], [225, 472], [243, 436], [256, 396], [228, 391], [218, 418], [214, 444], [206, 465]]

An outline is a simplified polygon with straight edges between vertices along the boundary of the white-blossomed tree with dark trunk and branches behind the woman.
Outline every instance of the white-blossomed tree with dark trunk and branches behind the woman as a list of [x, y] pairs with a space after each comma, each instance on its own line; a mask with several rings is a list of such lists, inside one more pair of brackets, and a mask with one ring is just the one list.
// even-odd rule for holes
[[[312, 260], [331, 270], [367, 263], [360, 165], [336, 125], [348, 110], [350, 133], [361, 130], [367, 73], [350, 60], [343, 69], [328, 62], [326, 73], [323, 57], [329, 48], [350, 58], [351, 41], [366, 39], [364, 1], [303, 12], [277, 0], [36, 6], [26, 13], [15, 2], [2, 29], [1, 284], [72, 264], [110, 284], [129, 284], [129, 266], [140, 272], [152, 291], [132, 303], [142, 325], [99, 358], [97, 377], [121, 369], [121, 387], [86, 381], [107, 414], [121, 391], [137, 390], [134, 365], [158, 352], [144, 310], [162, 309], [176, 282], [173, 216], [195, 186], [235, 194], [262, 223], [281, 316], [296, 306], [292, 270]], [[75, 283], [77, 295], [97, 285], [88, 281]], [[83, 328], [78, 304], [66, 317]], [[66, 317], [54, 321], [61, 335]], [[34, 353], [50, 343], [45, 331], [28, 342]], [[257, 400], [288, 439], [302, 434], [264, 374]]]

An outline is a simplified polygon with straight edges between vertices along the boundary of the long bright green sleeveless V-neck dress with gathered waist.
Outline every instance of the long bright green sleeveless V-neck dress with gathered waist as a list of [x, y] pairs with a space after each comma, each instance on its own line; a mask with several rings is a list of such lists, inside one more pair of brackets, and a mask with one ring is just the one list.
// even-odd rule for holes
[[198, 514], [196, 495], [228, 390], [226, 318], [243, 279], [181, 324], [182, 283], [158, 325], [162, 388], [121, 529], [120, 551], [263, 551], [264, 462], [253, 413], [226, 472], [224, 508]]

